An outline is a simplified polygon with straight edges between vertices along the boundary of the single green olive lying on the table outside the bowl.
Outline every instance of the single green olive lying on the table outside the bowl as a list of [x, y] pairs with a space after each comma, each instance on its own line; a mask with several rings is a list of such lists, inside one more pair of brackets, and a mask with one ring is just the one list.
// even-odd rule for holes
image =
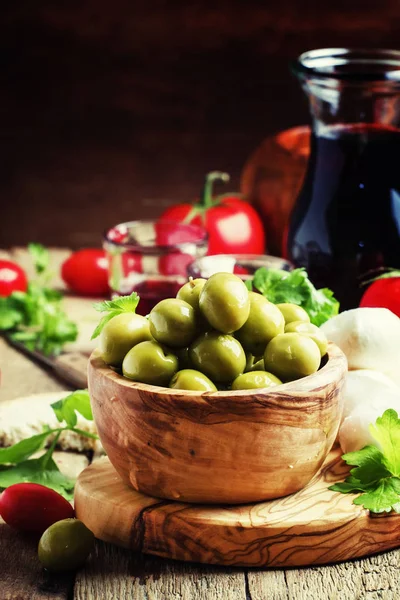
[[64, 519], [46, 529], [38, 554], [49, 571], [72, 571], [84, 564], [93, 548], [94, 535], [82, 521]]

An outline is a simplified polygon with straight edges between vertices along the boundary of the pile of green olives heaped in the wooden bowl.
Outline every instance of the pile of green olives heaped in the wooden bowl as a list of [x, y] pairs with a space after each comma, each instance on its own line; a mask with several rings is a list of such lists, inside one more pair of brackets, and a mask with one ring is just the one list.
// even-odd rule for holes
[[295, 304], [272, 304], [231, 273], [192, 279], [147, 317], [123, 313], [100, 335], [104, 361], [137, 382], [215, 392], [315, 373], [323, 332]]

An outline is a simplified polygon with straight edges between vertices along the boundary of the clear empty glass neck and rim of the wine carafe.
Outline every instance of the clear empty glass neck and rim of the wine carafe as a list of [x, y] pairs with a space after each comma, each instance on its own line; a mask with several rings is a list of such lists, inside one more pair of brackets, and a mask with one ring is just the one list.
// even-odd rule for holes
[[293, 64], [309, 99], [313, 129], [337, 124], [400, 128], [400, 52], [312, 50]]

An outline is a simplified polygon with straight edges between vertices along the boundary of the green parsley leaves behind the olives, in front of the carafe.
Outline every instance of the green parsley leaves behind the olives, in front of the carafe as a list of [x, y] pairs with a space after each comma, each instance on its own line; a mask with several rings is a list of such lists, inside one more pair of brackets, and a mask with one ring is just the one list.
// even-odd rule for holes
[[254, 273], [253, 285], [270, 302], [290, 302], [304, 308], [318, 327], [339, 312], [339, 302], [327, 288], [317, 290], [305, 269], [283, 271], [261, 267]]

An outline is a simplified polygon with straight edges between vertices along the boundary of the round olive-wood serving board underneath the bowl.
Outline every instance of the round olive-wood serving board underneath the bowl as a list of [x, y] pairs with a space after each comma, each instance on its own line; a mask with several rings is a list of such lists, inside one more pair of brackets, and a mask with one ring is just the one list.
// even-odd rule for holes
[[76, 514], [95, 536], [158, 556], [220, 565], [289, 567], [359, 558], [400, 546], [400, 515], [371, 516], [328, 487], [348, 467], [332, 451], [300, 492], [242, 506], [183, 504], [124, 485], [107, 458], [85, 469]]

